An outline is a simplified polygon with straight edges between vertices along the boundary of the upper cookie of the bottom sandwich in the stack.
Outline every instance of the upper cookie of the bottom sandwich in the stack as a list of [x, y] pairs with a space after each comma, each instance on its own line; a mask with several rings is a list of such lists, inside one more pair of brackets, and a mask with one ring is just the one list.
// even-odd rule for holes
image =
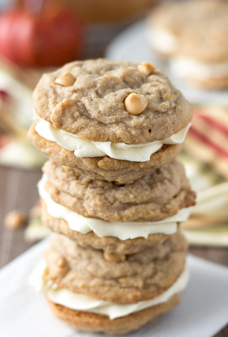
[[56, 235], [45, 252], [45, 281], [73, 293], [115, 303], [151, 300], [185, 268], [187, 243], [180, 233], [142, 252], [112, 260], [101, 250], [80, 247]]

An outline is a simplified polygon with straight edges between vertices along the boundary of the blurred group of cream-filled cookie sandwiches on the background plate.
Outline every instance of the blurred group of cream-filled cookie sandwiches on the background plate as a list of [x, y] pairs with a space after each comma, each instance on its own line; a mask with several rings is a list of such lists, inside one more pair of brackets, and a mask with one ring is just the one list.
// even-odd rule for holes
[[228, 87], [227, 1], [166, 2], [148, 18], [148, 40], [175, 76], [206, 89]]

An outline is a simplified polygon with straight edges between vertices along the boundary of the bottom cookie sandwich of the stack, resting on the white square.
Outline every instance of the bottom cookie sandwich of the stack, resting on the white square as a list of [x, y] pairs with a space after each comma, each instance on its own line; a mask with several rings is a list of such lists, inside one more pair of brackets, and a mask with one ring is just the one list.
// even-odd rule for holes
[[65, 323], [82, 331], [124, 334], [179, 303], [188, 282], [186, 250], [179, 233], [131, 255], [83, 248], [58, 235], [31, 283]]

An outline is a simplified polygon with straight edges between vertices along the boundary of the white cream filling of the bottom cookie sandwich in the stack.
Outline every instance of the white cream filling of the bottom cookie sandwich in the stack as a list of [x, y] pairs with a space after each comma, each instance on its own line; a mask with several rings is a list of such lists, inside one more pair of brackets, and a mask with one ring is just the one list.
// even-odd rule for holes
[[140, 301], [133, 304], [117, 304], [114, 302], [97, 300], [86, 295], [76, 294], [68, 289], [58, 288], [56, 284], [51, 282], [48, 282], [47, 284], [44, 280], [45, 270], [46, 263], [44, 260], [41, 260], [33, 270], [29, 283], [35, 287], [37, 291], [44, 292], [50, 301], [73, 310], [103, 314], [110, 319], [123, 317], [133, 312], [167, 302], [173, 295], [180, 293], [186, 287], [189, 280], [189, 272], [185, 269], [171, 287], [152, 300]]

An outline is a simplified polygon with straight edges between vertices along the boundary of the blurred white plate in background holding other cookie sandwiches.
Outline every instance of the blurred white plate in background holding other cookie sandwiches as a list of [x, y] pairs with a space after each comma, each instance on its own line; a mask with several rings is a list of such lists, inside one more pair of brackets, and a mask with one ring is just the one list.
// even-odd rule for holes
[[182, 91], [191, 103], [228, 104], [228, 91], [206, 91], [193, 88], [185, 81], [176, 78], [168, 63], [150, 48], [146, 41], [145, 21], [131, 25], [113, 39], [106, 49], [105, 57], [116, 60], [151, 62], [162, 69], [175, 87]]

